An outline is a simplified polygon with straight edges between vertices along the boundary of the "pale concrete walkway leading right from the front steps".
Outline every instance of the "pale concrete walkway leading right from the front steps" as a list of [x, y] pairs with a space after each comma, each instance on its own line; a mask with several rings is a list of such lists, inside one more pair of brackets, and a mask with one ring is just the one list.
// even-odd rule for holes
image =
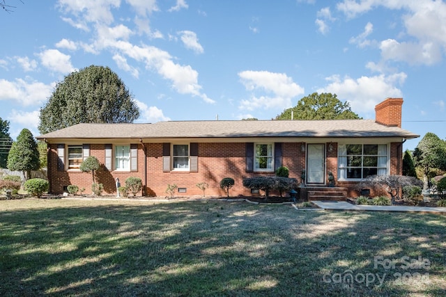
[[318, 207], [325, 210], [344, 211], [406, 211], [432, 214], [446, 214], [446, 207], [406, 207], [406, 206], [376, 206], [355, 205], [344, 201], [312, 201]]

